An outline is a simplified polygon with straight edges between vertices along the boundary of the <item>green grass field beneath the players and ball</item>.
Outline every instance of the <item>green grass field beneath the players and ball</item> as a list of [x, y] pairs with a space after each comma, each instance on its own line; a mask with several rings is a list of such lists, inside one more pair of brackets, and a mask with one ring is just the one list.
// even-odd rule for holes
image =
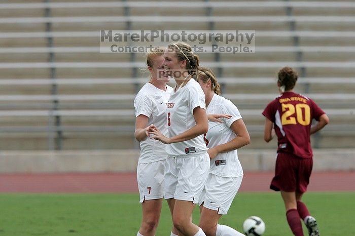
[[[355, 235], [354, 200], [355, 192], [309, 192], [304, 196], [324, 236]], [[135, 236], [140, 211], [137, 194], [0, 194], [0, 235]], [[239, 193], [220, 223], [241, 231], [243, 220], [251, 215], [265, 221], [265, 236], [292, 235], [278, 193]], [[193, 221], [198, 220], [196, 208]], [[164, 203], [156, 236], [170, 235], [170, 227]]]

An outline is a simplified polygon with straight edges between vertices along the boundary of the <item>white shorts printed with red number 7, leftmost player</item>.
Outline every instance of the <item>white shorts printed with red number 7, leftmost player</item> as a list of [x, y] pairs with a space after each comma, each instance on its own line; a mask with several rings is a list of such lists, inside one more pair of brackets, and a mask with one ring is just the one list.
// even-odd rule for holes
[[139, 203], [161, 199], [164, 196], [165, 160], [142, 163], [137, 166]]

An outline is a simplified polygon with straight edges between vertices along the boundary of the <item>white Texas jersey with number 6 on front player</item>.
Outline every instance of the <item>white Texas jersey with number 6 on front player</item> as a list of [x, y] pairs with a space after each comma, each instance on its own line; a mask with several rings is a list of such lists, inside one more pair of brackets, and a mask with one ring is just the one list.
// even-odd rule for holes
[[[171, 92], [166, 105], [169, 137], [184, 133], [196, 125], [193, 111], [198, 106], [206, 109], [205, 96], [201, 86], [193, 78], [183, 88], [179, 88], [176, 93]], [[170, 156], [191, 154], [207, 149], [203, 135], [166, 146], [166, 151]]]

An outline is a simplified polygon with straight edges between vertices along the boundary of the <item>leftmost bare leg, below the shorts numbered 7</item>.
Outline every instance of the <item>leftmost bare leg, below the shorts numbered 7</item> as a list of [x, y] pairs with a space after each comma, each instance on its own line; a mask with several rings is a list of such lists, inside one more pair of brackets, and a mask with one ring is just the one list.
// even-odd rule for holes
[[144, 236], [154, 236], [158, 227], [163, 199], [145, 200], [142, 203], [143, 217], [139, 233]]

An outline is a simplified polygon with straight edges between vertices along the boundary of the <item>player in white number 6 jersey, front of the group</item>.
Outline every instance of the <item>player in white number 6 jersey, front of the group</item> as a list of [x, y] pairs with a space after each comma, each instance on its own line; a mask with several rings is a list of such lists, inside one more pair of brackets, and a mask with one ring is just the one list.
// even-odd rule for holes
[[[168, 137], [152, 128], [151, 138], [168, 144], [165, 162], [165, 199], [179, 235], [202, 236], [201, 228], [192, 223], [191, 213], [206, 183], [209, 170], [203, 134], [208, 130], [205, 96], [196, 82], [199, 58], [185, 43], [170, 44], [164, 64], [172, 72], [176, 86], [167, 103]], [[177, 235], [171, 232], [170, 235]]]

